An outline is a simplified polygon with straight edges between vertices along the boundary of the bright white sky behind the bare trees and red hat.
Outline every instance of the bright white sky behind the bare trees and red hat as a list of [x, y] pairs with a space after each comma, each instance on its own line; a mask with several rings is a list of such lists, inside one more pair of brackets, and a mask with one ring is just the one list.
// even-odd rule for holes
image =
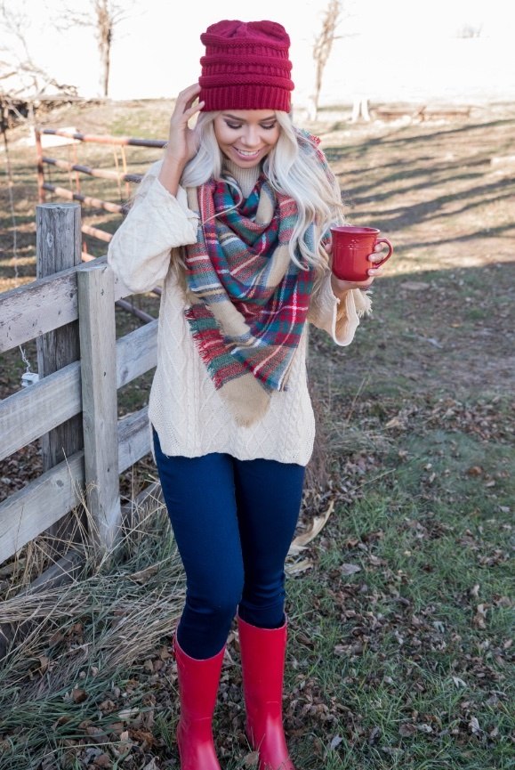
[[[6, 0], [27, 16], [28, 47], [56, 79], [98, 93], [98, 56], [93, 31], [54, 30], [63, 6], [87, 9], [87, 0]], [[292, 38], [295, 99], [312, 91], [311, 49], [327, 0], [260, 0], [245, 11], [241, 0], [193, 0], [177, 10], [171, 0], [120, 0], [126, 20], [115, 30], [113, 98], [174, 96], [197, 79], [203, 53], [199, 35], [221, 18], [272, 19]], [[479, 94], [515, 95], [512, 40], [515, 3], [510, 0], [343, 0], [349, 14], [327, 64], [322, 103], [349, 101], [363, 90], [373, 99], [416, 99], [434, 92], [442, 99]], [[506, 7], [508, 5], [508, 8]], [[245, 8], [250, 4], [245, 4]], [[294, 7], [294, 12], [292, 8]], [[191, 10], [189, 10], [191, 9]], [[466, 24], [481, 25], [482, 36], [456, 40]], [[0, 35], [0, 45], [4, 34]], [[0, 53], [0, 59], [4, 58]]]

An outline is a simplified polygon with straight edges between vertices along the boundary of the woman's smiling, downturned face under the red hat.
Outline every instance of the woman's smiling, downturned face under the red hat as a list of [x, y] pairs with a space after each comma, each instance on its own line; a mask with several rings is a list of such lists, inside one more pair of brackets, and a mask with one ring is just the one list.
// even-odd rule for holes
[[240, 168], [261, 163], [278, 143], [280, 130], [273, 109], [227, 109], [214, 118], [218, 146]]

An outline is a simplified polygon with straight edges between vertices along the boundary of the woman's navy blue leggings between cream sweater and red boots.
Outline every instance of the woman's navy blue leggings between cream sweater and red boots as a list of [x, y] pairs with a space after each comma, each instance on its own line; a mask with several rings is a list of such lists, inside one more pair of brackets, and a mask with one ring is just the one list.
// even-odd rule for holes
[[182, 650], [210, 658], [236, 614], [259, 628], [285, 618], [285, 559], [302, 499], [304, 467], [226, 454], [167, 457], [157, 470], [186, 571]]

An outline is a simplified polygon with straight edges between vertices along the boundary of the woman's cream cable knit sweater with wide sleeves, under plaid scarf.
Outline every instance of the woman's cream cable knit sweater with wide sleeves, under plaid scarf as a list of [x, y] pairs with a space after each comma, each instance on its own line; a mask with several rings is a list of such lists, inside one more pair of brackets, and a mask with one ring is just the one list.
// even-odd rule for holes
[[[166, 455], [199, 457], [221, 452], [238, 459], [267, 458], [305, 466], [313, 450], [315, 423], [306, 379], [307, 328], [294, 356], [287, 391], [273, 393], [270, 409], [253, 426], [237, 426], [214, 388], [184, 319], [184, 296], [171, 269], [173, 247], [195, 243], [197, 215], [185, 190], [171, 195], [158, 181], [160, 161], [143, 178], [133, 207], [109, 244], [108, 262], [134, 293], [163, 281], [157, 336], [157, 369], [150, 390], [149, 419]], [[248, 195], [255, 172], [230, 168]], [[311, 301], [309, 320], [339, 345], [350, 344], [369, 299], [350, 291], [338, 300], [326, 275]]]

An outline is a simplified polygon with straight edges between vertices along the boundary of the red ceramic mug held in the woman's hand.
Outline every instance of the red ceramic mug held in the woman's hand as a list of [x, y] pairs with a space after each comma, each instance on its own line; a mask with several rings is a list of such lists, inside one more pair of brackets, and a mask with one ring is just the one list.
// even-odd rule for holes
[[[386, 238], [378, 238], [375, 227], [332, 227], [333, 272], [341, 280], [368, 280], [371, 267], [379, 267], [393, 254], [393, 247]], [[374, 254], [378, 243], [386, 243], [388, 254], [381, 262], [370, 262], [366, 257]]]

